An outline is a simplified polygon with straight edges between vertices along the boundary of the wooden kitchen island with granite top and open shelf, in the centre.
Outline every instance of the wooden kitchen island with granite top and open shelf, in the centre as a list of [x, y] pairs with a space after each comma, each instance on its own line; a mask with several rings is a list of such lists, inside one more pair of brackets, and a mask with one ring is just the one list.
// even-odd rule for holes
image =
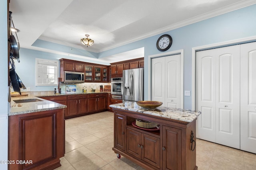
[[[114, 111], [114, 147], [117, 154], [147, 170], [196, 170], [196, 119], [199, 111], [157, 107], [144, 109], [136, 102], [110, 105]], [[136, 119], [157, 123], [136, 125]]]

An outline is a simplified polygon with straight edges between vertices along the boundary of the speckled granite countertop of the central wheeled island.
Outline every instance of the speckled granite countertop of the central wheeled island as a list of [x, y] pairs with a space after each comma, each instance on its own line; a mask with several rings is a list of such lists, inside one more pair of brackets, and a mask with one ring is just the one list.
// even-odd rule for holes
[[123, 101], [120, 104], [110, 105], [112, 108], [123, 109], [134, 111], [138, 113], [144, 113], [148, 115], [154, 115], [159, 117], [164, 117], [168, 119], [174, 119], [185, 122], [194, 121], [200, 114], [200, 111], [191, 111], [185, 109], [177, 109], [173, 107], [156, 107], [156, 109], [144, 109], [136, 104], [136, 102]]

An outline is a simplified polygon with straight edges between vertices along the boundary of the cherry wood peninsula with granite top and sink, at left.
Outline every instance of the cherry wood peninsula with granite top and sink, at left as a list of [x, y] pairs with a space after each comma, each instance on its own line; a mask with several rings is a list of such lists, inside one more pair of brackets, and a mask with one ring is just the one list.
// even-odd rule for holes
[[37, 97], [10, 102], [8, 169], [48, 169], [59, 166], [65, 153], [66, 106]]

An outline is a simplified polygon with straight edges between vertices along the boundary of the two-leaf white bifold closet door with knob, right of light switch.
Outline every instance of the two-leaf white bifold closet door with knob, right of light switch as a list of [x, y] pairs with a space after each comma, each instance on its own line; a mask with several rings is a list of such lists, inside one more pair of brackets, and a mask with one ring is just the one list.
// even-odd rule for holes
[[240, 47], [196, 54], [197, 137], [240, 148]]

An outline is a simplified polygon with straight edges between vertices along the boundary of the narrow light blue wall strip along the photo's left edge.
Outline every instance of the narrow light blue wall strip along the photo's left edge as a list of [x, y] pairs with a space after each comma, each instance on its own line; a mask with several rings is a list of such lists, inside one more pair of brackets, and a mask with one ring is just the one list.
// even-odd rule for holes
[[[0, 1], [0, 160], [8, 160], [8, 38], [7, 0]], [[7, 170], [7, 164], [0, 164]]]

